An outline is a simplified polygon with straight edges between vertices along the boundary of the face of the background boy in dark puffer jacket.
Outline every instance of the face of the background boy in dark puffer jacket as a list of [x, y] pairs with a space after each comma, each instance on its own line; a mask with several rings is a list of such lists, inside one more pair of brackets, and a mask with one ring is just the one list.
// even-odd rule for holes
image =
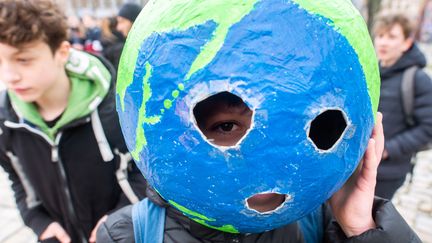
[[378, 59], [383, 67], [395, 64], [412, 45], [411, 39], [405, 37], [402, 26], [399, 24], [393, 25], [387, 31], [378, 32], [374, 43]]

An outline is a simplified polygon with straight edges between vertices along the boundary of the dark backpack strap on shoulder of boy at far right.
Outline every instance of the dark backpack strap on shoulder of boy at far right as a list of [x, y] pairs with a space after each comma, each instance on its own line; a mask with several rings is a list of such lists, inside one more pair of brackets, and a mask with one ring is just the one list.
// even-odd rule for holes
[[415, 96], [414, 77], [417, 70], [418, 70], [417, 66], [412, 66], [406, 69], [402, 74], [402, 83], [401, 83], [402, 108], [405, 113], [405, 122], [409, 126], [415, 125], [415, 120], [413, 117], [414, 96]]

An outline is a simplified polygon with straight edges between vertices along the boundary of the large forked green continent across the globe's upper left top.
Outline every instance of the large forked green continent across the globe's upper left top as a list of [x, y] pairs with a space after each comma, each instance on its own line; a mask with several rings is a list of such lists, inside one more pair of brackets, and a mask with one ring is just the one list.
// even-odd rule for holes
[[184, 31], [209, 20], [218, 24], [212, 40], [201, 50], [186, 75], [189, 78], [210, 63], [222, 47], [229, 28], [250, 13], [258, 0], [151, 0], [141, 11], [128, 36], [120, 59], [117, 93], [124, 110], [126, 89], [133, 82], [135, 62], [141, 44], [152, 33]]

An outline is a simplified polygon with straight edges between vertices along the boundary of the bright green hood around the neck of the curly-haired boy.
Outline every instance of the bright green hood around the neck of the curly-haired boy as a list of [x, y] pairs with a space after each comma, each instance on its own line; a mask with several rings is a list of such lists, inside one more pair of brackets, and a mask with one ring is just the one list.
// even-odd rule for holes
[[94, 111], [105, 98], [110, 87], [109, 70], [98, 58], [90, 54], [71, 50], [65, 68], [71, 82], [71, 93], [65, 111], [52, 128], [46, 125], [34, 103], [24, 102], [13, 92], [9, 92], [12, 106], [21, 120], [37, 126], [51, 139], [63, 126]]

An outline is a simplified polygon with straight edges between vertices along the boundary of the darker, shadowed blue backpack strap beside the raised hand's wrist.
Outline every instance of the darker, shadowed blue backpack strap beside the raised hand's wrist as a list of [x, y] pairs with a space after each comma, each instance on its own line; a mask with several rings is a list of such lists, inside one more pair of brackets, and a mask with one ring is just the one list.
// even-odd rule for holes
[[298, 221], [306, 243], [321, 243], [324, 236], [322, 205]]

